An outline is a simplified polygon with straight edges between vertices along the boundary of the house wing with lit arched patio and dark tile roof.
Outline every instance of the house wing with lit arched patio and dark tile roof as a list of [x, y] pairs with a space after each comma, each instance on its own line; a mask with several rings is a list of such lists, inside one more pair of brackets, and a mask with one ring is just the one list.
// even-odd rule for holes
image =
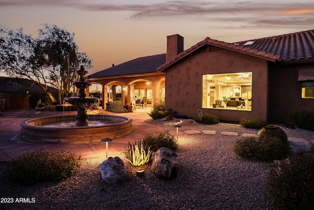
[[166, 54], [146, 56], [130, 60], [88, 75], [88, 81], [103, 86], [103, 108], [109, 100], [132, 104], [135, 99], [146, 97], [145, 106], [153, 107], [164, 99], [164, 73], [156, 69], [166, 62]]

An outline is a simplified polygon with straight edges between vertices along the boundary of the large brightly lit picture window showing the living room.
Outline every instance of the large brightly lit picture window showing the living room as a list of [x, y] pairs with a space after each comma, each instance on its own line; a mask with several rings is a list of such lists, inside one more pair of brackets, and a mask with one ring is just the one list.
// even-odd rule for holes
[[252, 110], [252, 72], [203, 75], [203, 108]]

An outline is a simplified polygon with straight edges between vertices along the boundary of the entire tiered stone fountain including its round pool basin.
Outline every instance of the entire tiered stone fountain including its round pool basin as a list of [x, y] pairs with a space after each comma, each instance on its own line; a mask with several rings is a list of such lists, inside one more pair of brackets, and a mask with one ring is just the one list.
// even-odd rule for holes
[[[64, 100], [77, 110], [77, 116], [36, 118], [21, 122], [20, 139], [36, 143], [91, 143], [103, 138], [118, 138], [132, 132], [132, 119], [113, 115], [87, 115], [87, 109], [98, 98], [86, 97], [85, 89], [91, 85], [85, 76], [84, 66], [77, 70], [79, 81], [72, 84], [78, 88], [78, 97]], [[76, 124], [72, 123], [76, 120]]]

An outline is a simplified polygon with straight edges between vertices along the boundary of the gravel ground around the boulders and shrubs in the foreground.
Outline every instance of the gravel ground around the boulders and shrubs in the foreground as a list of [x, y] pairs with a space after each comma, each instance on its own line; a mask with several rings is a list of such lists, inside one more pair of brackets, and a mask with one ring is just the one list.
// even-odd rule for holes
[[[177, 120], [147, 120], [166, 131], [174, 130]], [[3, 175], [7, 163], [0, 163], [1, 198], [13, 198], [14, 203], [0, 203], [0, 209], [45, 210], [272, 210], [264, 185], [270, 162], [238, 158], [233, 147], [242, 133], [258, 133], [238, 124], [186, 125], [184, 130], [215, 130], [215, 135], [179, 136], [181, 159], [178, 177], [160, 180], [149, 165], [132, 167], [132, 179], [121, 185], [109, 185], [102, 180], [99, 166], [105, 157], [81, 160], [78, 173], [67, 180], [39, 183], [34, 186], [9, 184]], [[313, 140], [313, 131], [285, 129], [290, 137]], [[239, 136], [224, 136], [221, 131], [237, 132]], [[144, 177], [135, 177], [135, 170], [145, 169]], [[29, 198], [34, 203], [17, 203], [16, 198]], [[34, 198], [34, 200], [31, 200]]]

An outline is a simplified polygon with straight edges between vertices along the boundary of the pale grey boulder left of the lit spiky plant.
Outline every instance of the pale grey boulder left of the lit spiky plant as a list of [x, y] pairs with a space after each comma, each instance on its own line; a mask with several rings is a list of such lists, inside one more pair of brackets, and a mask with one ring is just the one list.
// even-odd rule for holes
[[108, 184], [119, 184], [131, 179], [131, 172], [119, 157], [108, 157], [99, 170]]

